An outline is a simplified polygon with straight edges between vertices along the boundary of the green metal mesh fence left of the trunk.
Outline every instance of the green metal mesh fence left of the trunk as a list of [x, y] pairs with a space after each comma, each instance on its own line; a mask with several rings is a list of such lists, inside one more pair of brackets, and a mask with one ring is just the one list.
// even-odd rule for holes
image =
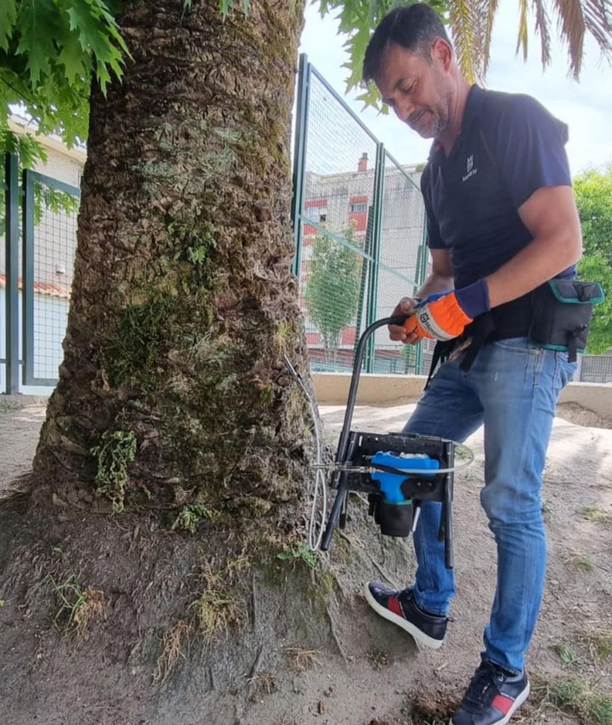
[[[21, 178], [20, 178], [21, 176]], [[80, 190], [4, 157], [0, 392], [53, 388], [62, 362]]]

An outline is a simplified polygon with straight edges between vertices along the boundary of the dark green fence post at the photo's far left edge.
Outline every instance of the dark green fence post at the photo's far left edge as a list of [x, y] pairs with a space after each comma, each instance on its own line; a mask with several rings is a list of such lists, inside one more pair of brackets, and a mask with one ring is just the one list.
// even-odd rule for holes
[[15, 154], [4, 157], [4, 191], [6, 209], [5, 244], [7, 260], [6, 286], [6, 351], [7, 383], [5, 392], [19, 392], [19, 159]]

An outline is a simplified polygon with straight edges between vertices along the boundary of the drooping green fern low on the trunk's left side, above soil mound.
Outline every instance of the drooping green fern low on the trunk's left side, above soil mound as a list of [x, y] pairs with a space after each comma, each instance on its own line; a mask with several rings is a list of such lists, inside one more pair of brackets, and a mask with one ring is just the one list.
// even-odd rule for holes
[[99, 493], [112, 501], [113, 513], [124, 508], [125, 486], [128, 485], [128, 464], [136, 458], [136, 435], [133, 431], [104, 431], [100, 444], [91, 452], [98, 469], [94, 482]]

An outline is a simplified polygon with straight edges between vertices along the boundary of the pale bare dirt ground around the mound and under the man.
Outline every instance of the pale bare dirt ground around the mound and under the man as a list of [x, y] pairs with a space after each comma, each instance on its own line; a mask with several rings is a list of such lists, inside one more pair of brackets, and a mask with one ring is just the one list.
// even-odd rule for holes
[[[358, 407], [355, 426], [397, 431], [413, 407]], [[344, 407], [323, 406], [321, 414], [326, 437], [334, 439]], [[0, 415], [0, 489], [15, 488], [15, 478], [27, 473], [43, 419], [41, 405]], [[22, 716], [15, 709], [17, 700], [5, 698], [3, 721], [7, 725], [32, 721], [44, 725], [441, 725], [447, 721], [444, 703], [460, 695], [478, 663], [481, 632], [495, 587], [495, 542], [479, 505], [484, 470], [481, 431], [467, 444], [476, 460], [455, 482], [458, 597], [447, 640], [437, 652], [418, 653], [408, 635], [372, 613], [361, 594], [363, 581], [352, 576], [350, 567], [339, 566], [344, 595], [337, 602], [332, 622], [335, 651], [316, 652], [307, 672], [276, 671], [273, 687], [249, 697], [248, 707], [232, 718], [214, 718], [205, 709], [200, 716], [191, 712], [189, 717], [178, 718], [176, 712], [170, 715], [161, 710], [156, 715], [144, 705], [140, 718], [133, 715], [134, 710], [124, 716], [92, 694], [89, 700], [79, 695], [73, 717], [62, 719], [47, 712], [44, 702], [30, 705], [28, 716]], [[363, 508], [358, 500], [352, 502], [355, 520], [365, 518]], [[609, 692], [612, 657], [607, 650], [603, 654], [597, 651], [598, 642], [612, 641], [612, 429], [608, 421], [575, 405], [559, 408], [545, 469], [543, 508], [549, 566], [542, 614], [528, 657], [529, 672], [540, 687], [572, 680]], [[361, 540], [355, 533], [357, 526], [352, 529], [351, 523], [341, 539], [347, 557], [366, 562], [368, 576], [401, 587], [410, 584], [414, 566], [410, 541], [386, 539], [376, 532], [367, 541]], [[0, 597], [2, 584], [0, 581]], [[0, 626], [13, 626], [2, 620], [0, 608]], [[1, 659], [0, 689], [7, 674], [1, 674], [2, 668], [9, 666], [10, 658]], [[42, 680], [49, 680], [49, 668], [33, 661], [30, 677], [33, 684], [28, 687], [42, 695]], [[88, 692], [87, 685], [91, 689], [91, 683], [85, 683], [82, 692]], [[26, 690], [30, 692], [24, 685], [24, 693]], [[411, 714], [418, 695], [433, 703], [425, 708], [426, 718]], [[595, 725], [609, 721], [584, 713], [571, 716], [542, 705], [527, 708], [514, 722]]]

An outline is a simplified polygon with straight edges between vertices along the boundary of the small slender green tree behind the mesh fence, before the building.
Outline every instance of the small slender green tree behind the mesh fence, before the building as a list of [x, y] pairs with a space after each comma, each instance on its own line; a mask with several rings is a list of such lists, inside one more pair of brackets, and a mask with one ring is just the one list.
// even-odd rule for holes
[[[353, 228], [340, 234], [355, 246]], [[328, 363], [336, 363], [342, 331], [355, 320], [363, 258], [323, 233], [315, 236], [306, 284], [310, 320], [321, 333]]]

